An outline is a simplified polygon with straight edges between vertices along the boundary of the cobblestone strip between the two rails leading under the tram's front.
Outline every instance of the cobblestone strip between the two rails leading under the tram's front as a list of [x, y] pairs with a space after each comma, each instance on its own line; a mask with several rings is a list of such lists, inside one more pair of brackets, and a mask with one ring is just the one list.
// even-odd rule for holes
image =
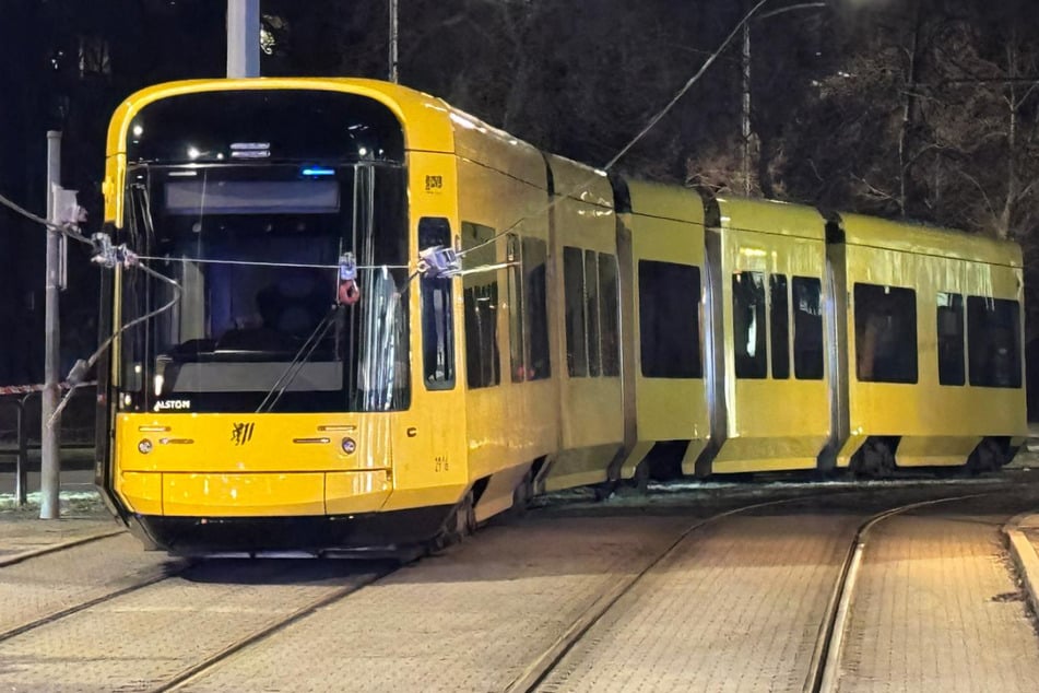
[[[371, 569], [346, 561], [209, 561], [0, 642], [0, 690], [147, 691]], [[299, 678], [292, 685], [309, 688]]]

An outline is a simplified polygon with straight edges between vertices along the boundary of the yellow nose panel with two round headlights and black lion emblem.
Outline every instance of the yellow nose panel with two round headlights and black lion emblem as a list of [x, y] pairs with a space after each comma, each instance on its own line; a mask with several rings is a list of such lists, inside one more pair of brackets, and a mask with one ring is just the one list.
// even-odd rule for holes
[[[387, 414], [119, 414], [116, 421], [123, 471], [382, 469], [391, 466], [391, 436]], [[351, 455], [343, 453], [344, 437], [356, 443]], [[139, 450], [142, 441], [151, 444], [147, 454]]]

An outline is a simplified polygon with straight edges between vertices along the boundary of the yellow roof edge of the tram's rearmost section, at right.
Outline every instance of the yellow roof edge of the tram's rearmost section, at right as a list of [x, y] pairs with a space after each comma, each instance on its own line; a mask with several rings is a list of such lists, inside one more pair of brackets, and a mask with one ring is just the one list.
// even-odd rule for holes
[[843, 233], [843, 242], [850, 245], [990, 265], [1023, 266], [1020, 246], [1013, 240], [862, 214], [840, 213], [836, 215], [835, 221]]

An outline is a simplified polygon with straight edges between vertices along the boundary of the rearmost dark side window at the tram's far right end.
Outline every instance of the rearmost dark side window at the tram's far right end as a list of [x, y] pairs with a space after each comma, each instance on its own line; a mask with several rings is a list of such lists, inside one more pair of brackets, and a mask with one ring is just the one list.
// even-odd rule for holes
[[1019, 388], [1020, 305], [1006, 298], [967, 296], [970, 384]]

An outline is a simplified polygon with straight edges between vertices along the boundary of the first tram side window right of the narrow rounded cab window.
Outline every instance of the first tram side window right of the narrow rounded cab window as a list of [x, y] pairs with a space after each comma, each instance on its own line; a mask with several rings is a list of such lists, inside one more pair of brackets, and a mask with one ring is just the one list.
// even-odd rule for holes
[[[495, 263], [495, 247], [488, 243], [495, 232], [488, 226], [462, 222], [462, 248], [471, 267]], [[497, 272], [465, 277], [465, 375], [470, 388], [491, 387], [501, 381], [498, 363]]]

